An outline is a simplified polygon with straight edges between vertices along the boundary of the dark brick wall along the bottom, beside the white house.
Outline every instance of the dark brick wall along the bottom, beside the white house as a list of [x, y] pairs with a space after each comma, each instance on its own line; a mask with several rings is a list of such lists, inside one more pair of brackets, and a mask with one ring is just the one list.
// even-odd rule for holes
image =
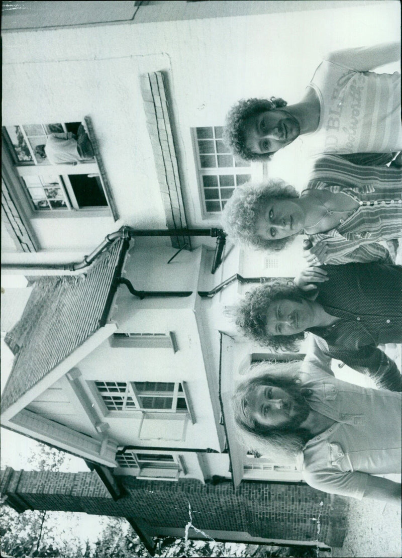
[[182, 527], [184, 532], [190, 503], [194, 525], [205, 531], [314, 541], [321, 509], [320, 541], [341, 546], [345, 536], [346, 502], [306, 484], [243, 482], [234, 490], [229, 480], [217, 485], [197, 480], [118, 480], [125, 496], [113, 501], [95, 472], [13, 472], [7, 468], [2, 472], [1, 492], [17, 494], [34, 509], [141, 518], [152, 526], [154, 535], [158, 527]]

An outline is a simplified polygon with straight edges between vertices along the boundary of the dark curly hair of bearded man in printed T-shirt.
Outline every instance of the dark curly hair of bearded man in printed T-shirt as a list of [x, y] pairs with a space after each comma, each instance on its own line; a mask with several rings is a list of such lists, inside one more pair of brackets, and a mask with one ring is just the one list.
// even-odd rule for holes
[[269, 161], [274, 153], [253, 153], [246, 147], [246, 137], [244, 133], [245, 121], [266, 110], [286, 107], [288, 103], [277, 97], [269, 99], [241, 99], [226, 114], [224, 128], [224, 143], [233, 150], [234, 155], [238, 155], [246, 161]]

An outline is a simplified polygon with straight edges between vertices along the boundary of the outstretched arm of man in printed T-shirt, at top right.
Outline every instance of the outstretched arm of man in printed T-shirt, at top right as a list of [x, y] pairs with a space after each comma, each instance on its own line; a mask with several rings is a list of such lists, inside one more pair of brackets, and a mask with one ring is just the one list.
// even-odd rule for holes
[[400, 59], [400, 43], [383, 43], [330, 52], [324, 60], [355, 71], [369, 71]]

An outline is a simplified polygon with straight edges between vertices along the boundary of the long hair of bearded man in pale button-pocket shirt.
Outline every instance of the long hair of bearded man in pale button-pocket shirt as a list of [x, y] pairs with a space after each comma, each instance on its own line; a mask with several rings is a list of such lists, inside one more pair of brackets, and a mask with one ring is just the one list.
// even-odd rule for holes
[[[270, 427], [259, 424], [249, 413], [247, 400], [258, 386], [276, 386], [286, 389], [301, 399], [299, 388], [300, 362], [267, 363], [260, 362], [249, 368], [248, 378], [239, 384], [232, 397], [234, 418], [244, 438], [247, 438], [250, 449], [264, 453], [265, 448], [280, 453], [297, 455], [303, 445], [311, 437], [304, 429], [294, 431], [286, 427]], [[247, 436], [244, 436], [246, 434]], [[269, 452], [270, 453], [270, 452]]]

